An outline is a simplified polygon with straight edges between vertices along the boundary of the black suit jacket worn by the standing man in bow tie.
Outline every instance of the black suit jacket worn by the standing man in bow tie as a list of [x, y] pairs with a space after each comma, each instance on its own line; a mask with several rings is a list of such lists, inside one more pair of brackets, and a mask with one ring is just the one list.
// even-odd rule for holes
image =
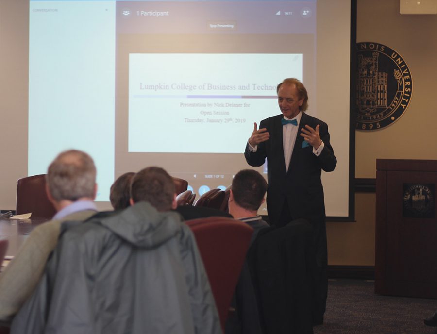
[[[266, 128], [269, 140], [260, 143], [256, 152], [246, 146], [244, 156], [251, 166], [261, 166], [267, 157], [268, 182], [267, 209], [269, 220], [275, 223], [279, 218], [284, 200], [287, 200], [293, 219], [305, 218], [312, 222], [324, 221], [325, 205], [321, 170], [332, 171], [336, 167], [336, 157], [329, 141], [328, 125], [312, 116], [302, 113], [299, 131], [286, 171], [281, 119], [283, 115], [269, 117], [261, 121], [259, 128]], [[311, 145], [305, 145], [301, 128], [308, 124], [313, 129], [320, 125], [319, 134], [324, 148], [319, 156], [313, 153]], [[307, 143], [306, 143], [307, 144]]]

